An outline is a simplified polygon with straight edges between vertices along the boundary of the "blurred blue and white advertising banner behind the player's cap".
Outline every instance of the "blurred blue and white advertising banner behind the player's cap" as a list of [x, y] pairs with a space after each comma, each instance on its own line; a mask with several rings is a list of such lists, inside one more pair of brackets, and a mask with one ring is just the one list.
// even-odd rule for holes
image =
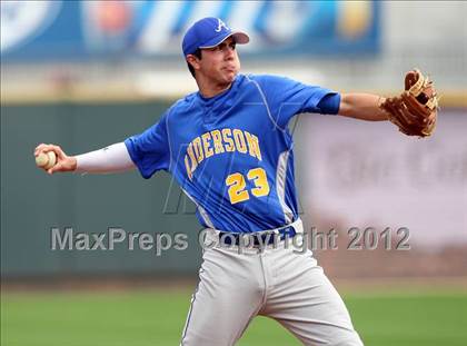
[[245, 56], [376, 53], [379, 4], [367, 1], [2, 1], [1, 58], [172, 57], [203, 17], [247, 31]]

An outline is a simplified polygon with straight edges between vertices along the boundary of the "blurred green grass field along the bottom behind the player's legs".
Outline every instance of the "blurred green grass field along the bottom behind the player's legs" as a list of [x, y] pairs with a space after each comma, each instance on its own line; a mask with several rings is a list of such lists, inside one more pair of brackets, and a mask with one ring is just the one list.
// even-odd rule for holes
[[[364, 291], [344, 298], [366, 345], [467, 345], [466, 291]], [[161, 289], [3, 293], [1, 345], [179, 345], [189, 299], [188, 290]], [[276, 322], [258, 317], [238, 345], [301, 344]]]

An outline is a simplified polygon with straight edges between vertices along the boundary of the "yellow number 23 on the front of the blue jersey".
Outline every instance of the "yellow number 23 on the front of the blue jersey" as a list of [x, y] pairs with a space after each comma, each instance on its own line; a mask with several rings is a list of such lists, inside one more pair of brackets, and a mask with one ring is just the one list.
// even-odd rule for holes
[[249, 191], [246, 189], [247, 182], [245, 176], [239, 172], [229, 175], [226, 178], [226, 185], [229, 186], [229, 198], [232, 205], [248, 200], [250, 194], [255, 197], [262, 197], [269, 195], [269, 184], [266, 171], [262, 168], [252, 168], [247, 172], [247, 179], [251, 181], [255, 187]]

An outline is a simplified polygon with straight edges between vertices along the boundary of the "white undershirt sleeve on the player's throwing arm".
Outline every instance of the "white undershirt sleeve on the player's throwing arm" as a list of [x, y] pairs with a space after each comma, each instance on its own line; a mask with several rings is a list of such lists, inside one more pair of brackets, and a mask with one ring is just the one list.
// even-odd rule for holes
[[76, 172], [111, 174], [136, 168], [125, 142], [78, 155]]

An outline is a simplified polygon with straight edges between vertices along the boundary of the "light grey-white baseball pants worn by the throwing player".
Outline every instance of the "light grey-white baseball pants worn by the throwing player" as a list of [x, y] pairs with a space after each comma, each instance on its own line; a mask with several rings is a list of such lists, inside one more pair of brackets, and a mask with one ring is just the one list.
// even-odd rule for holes
[[[301, 221], [296, 221], [302, 233]], [[299, 229], [298, 229], [299, 228]], [[218, 240], [209, 229], [206, 241]], [[182, 346], [230, 346], [257, 315], [279, 322], [304, 345], [362, 346], [337, 290], [310, 250], [217, 246], [205, 249]]]

